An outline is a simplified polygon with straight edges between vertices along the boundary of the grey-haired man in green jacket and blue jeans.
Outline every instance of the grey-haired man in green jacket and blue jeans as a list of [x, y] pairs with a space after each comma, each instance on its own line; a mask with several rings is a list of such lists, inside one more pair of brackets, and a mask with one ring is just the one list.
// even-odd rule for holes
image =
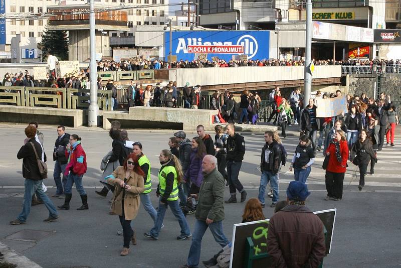
[[204, 180], [200, 185], [198, 194], [191, 194], [188, 198], [197, 199], [198, 203], [195, 212], [195, 230], [192, 236], [191, 247], [187, 264], [181, 268], [194, 268], [199, 264], [200, 242], [206, 229], [209, 227], [216, 242], [222, 247], [230, 243], [223, 233], [224, 220], [224, 178], [217, 170], [217, 159], [207, 155], [202, 161], [202, 172]]

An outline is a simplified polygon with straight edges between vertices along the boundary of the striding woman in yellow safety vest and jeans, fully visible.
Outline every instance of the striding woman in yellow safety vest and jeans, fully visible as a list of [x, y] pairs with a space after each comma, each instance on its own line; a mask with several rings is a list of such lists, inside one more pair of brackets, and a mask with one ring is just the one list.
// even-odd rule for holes
[[159, 155], [159, 161], [161, 168], [159, 170], [159, 185], [156, 191], [156, 195], [159, 197], [157, 217], [153, 228], [143, 235], [153, 240], [158, 239], [168, 205], [181, 227], [181, 234], [177, 236], [177, 240], [188, 239], [192, 237], [192, 234], [178, 202], [178, 185], [183, 180], [181, 164], [171, 154], [170, 150], [162, 150]]

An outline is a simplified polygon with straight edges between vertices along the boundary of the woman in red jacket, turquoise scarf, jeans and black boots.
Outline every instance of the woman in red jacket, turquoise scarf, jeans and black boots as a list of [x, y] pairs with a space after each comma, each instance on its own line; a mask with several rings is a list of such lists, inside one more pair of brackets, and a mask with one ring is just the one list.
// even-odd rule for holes
[[66, 158], [68, 164], [64, 170], [64, 176], [67, 177], [65, 200], [64, 205], [58, 206], [60, 209], [69, 210], [70, 201], [72, 197], [72, 186], [75, 183], [78, 193], [81, 196], [82, 206], [77, 210], [89, 209], [88, 196], [86, 195], [85, 189], [82, 185], [82, 177], [86, 173], [86, 154], [81, 146], [81, 138], [78, 135], [73, 134], [70, 136], [70, 143], [66, 148]]

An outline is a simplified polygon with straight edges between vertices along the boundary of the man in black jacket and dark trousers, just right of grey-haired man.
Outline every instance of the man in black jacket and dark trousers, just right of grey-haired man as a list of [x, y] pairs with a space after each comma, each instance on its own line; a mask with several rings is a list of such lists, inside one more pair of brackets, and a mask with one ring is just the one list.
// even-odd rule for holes
[[241, 202], [244, 202], [247, 199], [247, 192], [238, 179], [238, 175], [240, 174], [242, 161], [244, 160], [245, 141], [244, 137], [235, 132], [234, 124], [227, 125], [227, 134], [229, 135], [226, 144], [227, 173], [231, 197], [225, 203], [237, 203], [237, 190], [241, 193]]

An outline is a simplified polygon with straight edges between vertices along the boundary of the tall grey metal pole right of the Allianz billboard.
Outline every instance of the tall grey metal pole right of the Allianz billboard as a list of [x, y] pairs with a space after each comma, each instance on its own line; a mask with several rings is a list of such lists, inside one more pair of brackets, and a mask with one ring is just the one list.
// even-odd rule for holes
[[310, 63], [312, 61], [312, 2], [306, 3], [306, 40], [305, 40], [305, 80], [304, 80], [304, 107], [309, 105], [312, 90], [312, 75]]

